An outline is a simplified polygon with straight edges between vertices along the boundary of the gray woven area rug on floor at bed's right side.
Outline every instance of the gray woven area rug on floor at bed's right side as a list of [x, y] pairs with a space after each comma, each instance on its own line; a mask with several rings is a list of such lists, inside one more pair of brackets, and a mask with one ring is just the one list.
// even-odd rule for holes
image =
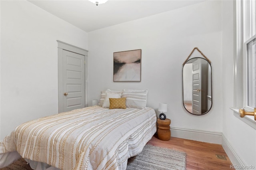
[[186, 153], [146, 145], [140, 154], [128, 159], [126, 170], [185, 170]]

